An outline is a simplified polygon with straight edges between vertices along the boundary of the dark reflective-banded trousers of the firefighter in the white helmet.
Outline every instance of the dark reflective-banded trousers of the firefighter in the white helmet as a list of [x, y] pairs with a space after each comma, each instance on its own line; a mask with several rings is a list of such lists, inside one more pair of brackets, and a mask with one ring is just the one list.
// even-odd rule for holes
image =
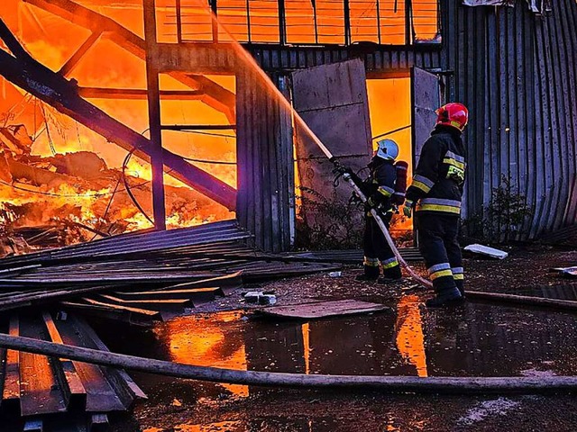
[[[389, 211], [381, 216], [382, 221], [389, 229], [392, 213]], [[398, 279], [401, 277], [400, 266], [392, 249], [387, 243], [385, 235], [372, 216], [365, 216], [364, 235], [362, 238], [364, 252], [364, 271], [366, 275], [378, 276], [380, 267], [385, 277]]]

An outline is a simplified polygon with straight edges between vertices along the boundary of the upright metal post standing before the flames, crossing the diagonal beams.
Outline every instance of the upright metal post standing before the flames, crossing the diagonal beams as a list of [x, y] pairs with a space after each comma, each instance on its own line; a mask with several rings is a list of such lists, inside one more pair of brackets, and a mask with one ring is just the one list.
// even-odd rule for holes
[[146, 80], [148, 93], [148, 121], [151, 130], [152, 211], [154, 228], [166, 229], [164, 209], [164, 178], [162, 168], [162, 131], [160, 130], [160, 85], [156, 64], [156, 6], [155, 0], [143, 0], [144, 40], [146, 45]]

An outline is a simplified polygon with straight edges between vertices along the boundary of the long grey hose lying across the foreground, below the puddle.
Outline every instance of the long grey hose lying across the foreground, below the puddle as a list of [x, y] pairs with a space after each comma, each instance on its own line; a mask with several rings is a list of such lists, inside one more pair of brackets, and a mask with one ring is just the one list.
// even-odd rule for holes
[[44, 356], [78, 360], [95, 365], [124, 368], [213, 383], [246, 385], [372, 389], [382, 392], [411, 393], [524, 393], [573, 392], [577, 376], [547, 377], [426, 377], [372, 375], [307, 375], [255, 371], [235, 371], [215, 367], [182, 365], [163, 360], [125, 356], [97, 349], [71, 347], [44, 340], [0, 334], [0, 347]]

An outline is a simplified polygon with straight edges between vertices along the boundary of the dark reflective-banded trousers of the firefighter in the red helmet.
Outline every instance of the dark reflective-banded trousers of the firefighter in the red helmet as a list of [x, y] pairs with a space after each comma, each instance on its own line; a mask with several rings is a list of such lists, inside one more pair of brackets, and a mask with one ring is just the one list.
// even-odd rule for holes
[[459, 217], [435, 212], [417, 212], [418, 248], [437, 293], [456, 286], [463, 292], [463, 257], [459, 246]]

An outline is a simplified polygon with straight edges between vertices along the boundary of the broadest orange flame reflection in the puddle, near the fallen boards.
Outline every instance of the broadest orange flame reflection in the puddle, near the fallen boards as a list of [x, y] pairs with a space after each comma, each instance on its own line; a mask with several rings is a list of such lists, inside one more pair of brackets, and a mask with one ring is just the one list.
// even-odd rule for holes
[[[243, 334], [226, 325], [239, 322], [241, 313], [225, 312], [181, 317], [166, 323], [170, 360], [186, 365], [212, 366], [246, 371]], [[247, 385], [221, 384], [236, 396], [249, 395]], [[188, 430], [188, 429], [187, 429]], [[197, 429], [190, 429], [197, 430]], [[198, 429], [204, 430], [204, 429]]]

